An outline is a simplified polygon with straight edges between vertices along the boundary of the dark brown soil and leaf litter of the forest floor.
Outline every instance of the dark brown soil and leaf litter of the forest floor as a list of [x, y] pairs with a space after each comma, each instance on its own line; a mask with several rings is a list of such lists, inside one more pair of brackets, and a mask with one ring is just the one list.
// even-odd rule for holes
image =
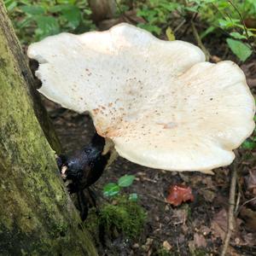
[[[195, 43], [191, 37], [182, 39]], [[214, 38], [206, 43], [207, 49], [214, 52], [212, 59], [230, 59], [219, 40]], [[241, 68], [255, 95], [256, 61], [248, 60]], [[94, 127], [88, 115], [74, 113], [46, 99], [44, 102], [67, 154], [90, 142]], [[243, 160], [238, 167], [236, 230], [230, 239], [228, 255], [256, 255], [256, 152], [242, 148], [239, 152]], [[102, 247], [101, 255], [218, 255], [227, 232], [230, 169], [218, 168], [213, 172], [213, 176], [199, 172], [166, 172], [138, 166], [119, 157], [94, 186], [99, 205], [104, 201], [102, 188], [105, 184], [133, 174], [136, 180], [125, 193], [137, 193], [138, 204], [146, 210], [147, 220], [141, 236], [133, 240], [123, 236], [114, 238]], [[195, 200], [179, 207], [167, 203], [168, 189], [174, 184], [189, 186]]]

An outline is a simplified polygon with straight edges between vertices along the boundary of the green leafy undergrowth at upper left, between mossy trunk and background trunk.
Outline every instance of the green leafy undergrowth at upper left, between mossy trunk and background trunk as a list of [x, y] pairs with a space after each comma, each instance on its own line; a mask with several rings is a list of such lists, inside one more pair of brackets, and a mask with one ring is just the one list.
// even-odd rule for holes
[[4, 1], [22, 44], [59, 32], [84, 32], [95, 28], [86, 1]]

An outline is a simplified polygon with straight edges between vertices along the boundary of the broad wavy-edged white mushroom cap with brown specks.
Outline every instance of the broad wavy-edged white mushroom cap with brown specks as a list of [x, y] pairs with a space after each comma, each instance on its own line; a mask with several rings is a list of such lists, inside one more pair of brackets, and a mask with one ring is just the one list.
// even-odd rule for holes
[[231, 61], [205, 62], [201, 49], [166, 42], [135, 26], [61, 33], [32, 44], [39, 91], [89, 112], [102, 137], [137, 164], [171, 171], [227, 166], [253, 132], [254, 100]]

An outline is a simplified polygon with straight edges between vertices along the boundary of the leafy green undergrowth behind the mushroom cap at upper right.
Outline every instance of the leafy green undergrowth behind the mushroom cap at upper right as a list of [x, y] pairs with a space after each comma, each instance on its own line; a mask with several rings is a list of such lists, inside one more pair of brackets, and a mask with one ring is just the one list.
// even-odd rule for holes
[[177, 15], [184, 20], [197, 17], [207, 25], [201, 32], [201, 39], [213, 32], [223, 32], [227, 46], [241, 61], [246, 61], [255, 51], [256, 29], [245, 26], [246, 19], [255, 19], [254, 0], [138, 1], [137, 15], [146, 20], [138, 26], [158, 36], [166, 31], [173, 19], [177, 19]]

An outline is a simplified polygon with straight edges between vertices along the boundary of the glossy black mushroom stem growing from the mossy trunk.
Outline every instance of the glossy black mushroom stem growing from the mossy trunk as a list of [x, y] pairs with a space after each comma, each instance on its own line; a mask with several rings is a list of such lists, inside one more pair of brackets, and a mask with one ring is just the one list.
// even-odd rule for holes
[[72, 157], [57, 157], [61, 177], [68, 183], [69, 193], [78, 195], [78, 208], [83, 220], [87, 217], [91, 201], [95, 204], [94, 195], [91, 195], [89, 187], [102, 176], [102, 172], [108, 166], [111, 152], [106, 150], [105, 138], [95, 133], [90, 144]]

